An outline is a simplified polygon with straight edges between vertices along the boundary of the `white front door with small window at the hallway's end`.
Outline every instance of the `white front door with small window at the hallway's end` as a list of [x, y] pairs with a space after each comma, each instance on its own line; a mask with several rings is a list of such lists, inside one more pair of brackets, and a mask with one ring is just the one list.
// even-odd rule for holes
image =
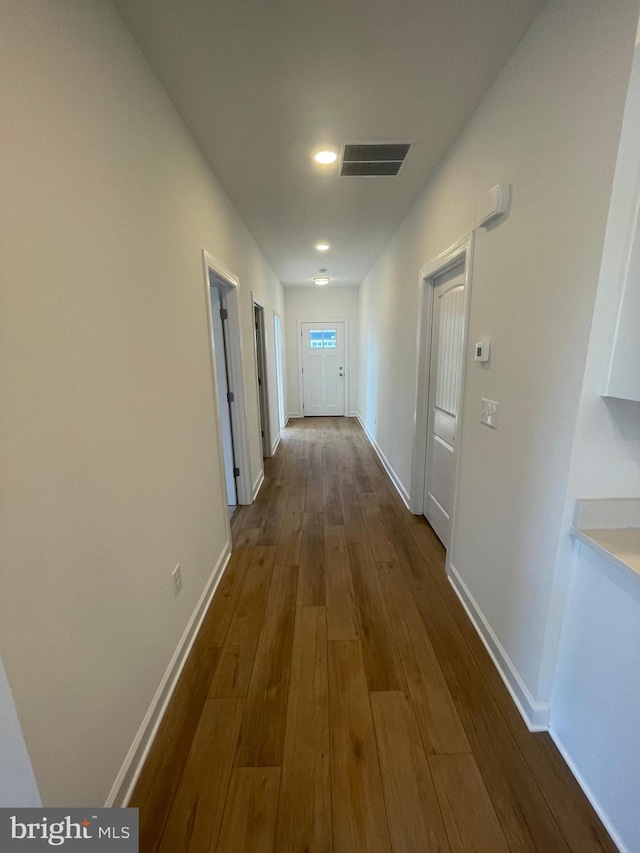
[[344, 322], [301, 323], [303, 415], [344, 415]]

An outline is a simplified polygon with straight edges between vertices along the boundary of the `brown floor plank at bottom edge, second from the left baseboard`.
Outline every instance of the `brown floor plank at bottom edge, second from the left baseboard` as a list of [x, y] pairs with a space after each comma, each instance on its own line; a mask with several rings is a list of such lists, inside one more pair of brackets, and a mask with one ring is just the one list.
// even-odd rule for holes
[[[215, 848], [227, 799], [243, 699], [209, 697], [193, 739], [160, 853]], [[144, 847], [143, 849], [147, 849]]]

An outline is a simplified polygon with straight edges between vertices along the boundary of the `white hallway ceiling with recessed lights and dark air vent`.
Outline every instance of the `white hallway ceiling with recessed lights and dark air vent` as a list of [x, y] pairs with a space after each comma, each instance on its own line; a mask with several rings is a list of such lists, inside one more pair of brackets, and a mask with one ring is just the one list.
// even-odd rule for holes
[[[321, 267], [362, 281], [542, 5], [115, 0], [285, 286]], [[394, 140], [414, 141], [398, 177], [339, 177], [311, 158]]]

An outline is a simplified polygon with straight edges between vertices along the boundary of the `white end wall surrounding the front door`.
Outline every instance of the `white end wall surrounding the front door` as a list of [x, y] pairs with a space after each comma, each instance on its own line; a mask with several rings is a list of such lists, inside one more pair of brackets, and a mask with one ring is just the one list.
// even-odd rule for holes
[[285, 373], [289, 400], [288, 415], [301, 417], [298, 364], [299, 322], [347, 320], [349, 325], [349, 400], [347, 414], [358, 411], [359, 289], [357, 287], [288, 287], [285, 289]]

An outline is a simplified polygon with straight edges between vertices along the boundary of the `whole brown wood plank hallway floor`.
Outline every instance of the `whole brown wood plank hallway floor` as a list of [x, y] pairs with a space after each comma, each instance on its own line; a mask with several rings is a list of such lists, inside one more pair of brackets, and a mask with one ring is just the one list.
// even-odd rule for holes
[[132, 799], [143, 853], [614, 853], [356, 421], [294, 421], [232, 527]]

